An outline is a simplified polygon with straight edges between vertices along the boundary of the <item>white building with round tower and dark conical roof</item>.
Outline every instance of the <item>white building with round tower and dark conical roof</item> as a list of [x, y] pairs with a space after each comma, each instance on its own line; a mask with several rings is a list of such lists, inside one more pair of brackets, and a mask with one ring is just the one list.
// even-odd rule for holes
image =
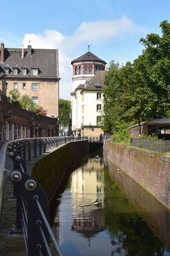
[[87, 52], [71, 64], [72, 132], [82, 136], [100, 136], [103, 134], [101, 114], [106, 62]]

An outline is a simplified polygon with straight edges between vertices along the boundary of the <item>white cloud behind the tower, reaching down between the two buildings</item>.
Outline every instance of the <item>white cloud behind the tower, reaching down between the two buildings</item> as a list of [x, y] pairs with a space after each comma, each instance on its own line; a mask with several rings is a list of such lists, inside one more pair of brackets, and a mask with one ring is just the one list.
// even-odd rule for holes
[[[39, 49], [59, 49], [60, 61], [60, 97], [69, 99], [72, 90], [72, 67], [69, 54], [73, 49], [84, 43], [106, 43], [113, 38], [123, 37], [126, 34], [146, 33], [143, 27], [138, 27], [132, 19], [123, 16], [120, 19], [82, 22], [75, 33], [64, 36], [56, 30], [45, 30], [40, 33], [25, 33], [24, 47], [31, 41], [32, 47]], [[84, 52], [82, 52], [84, 54]]]

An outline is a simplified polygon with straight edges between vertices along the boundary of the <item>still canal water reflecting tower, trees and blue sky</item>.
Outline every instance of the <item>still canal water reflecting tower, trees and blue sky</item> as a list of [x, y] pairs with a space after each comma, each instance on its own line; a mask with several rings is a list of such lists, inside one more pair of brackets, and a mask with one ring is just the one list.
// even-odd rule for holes
[[113, 164], [94, 161], [97, 154], [72, 163], [53, 201], [63, 254], [170, 255], [170, 212]]

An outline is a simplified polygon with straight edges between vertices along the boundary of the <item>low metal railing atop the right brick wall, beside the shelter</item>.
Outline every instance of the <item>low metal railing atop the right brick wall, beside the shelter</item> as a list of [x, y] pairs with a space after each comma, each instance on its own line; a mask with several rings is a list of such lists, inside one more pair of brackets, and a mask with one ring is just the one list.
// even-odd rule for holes
[[131, 146], [166, 153], [170, 151], [170, 140], [155, 138], [132, 138]]

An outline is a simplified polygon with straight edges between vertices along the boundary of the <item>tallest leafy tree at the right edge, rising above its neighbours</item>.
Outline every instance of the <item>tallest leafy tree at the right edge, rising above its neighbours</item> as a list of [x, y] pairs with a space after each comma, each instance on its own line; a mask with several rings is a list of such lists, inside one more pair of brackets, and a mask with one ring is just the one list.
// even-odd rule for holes
[[165, 20], [160, 27], [161, 36], [151, 33], [140, 42], [145, 47], [143, 60], [148, 72], [148, 87], [155, 95], [153, 112], [164, 112], [166, 116], [170, 109], [170, 24]]

